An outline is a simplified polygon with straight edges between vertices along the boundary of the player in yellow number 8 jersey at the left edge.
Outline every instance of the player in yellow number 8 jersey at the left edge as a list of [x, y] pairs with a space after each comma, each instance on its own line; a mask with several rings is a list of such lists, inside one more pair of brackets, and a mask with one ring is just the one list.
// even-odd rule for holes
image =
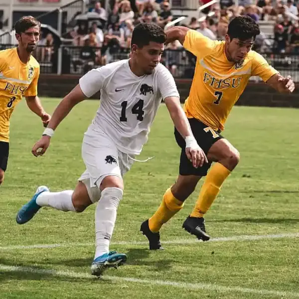
[[22, 96], [44, 126], [50, 121], [37, 97], [39, 64], [31, 55], [39, 40], [40, 24], [32, 16], [24, 16], [14, 29], [18, 46], [0, 51], [0, 184], [9, 154], [9, 119]]

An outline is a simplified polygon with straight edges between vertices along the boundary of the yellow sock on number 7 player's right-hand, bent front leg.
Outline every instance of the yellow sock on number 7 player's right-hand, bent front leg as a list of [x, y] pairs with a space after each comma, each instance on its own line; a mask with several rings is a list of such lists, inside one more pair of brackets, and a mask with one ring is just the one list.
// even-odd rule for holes
[[203, 217], [217, 197], [224, 180], [229, 176], [230, 170], [220, 163], [215, 163], [208, 172], [203, 183], [191, 217]]

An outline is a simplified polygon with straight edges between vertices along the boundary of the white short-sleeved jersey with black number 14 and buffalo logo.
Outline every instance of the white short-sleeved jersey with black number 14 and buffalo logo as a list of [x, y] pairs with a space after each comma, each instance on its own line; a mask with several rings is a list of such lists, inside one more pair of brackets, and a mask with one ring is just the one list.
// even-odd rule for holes
[[87, 97], [101, 92], [92, 129], [107, 134], [129, 154], [139, 154], [147, 142], [161, 100], [179, 97], [172, 75], [160, 63], [152, 74], [139, 77], [131, 71], [129, 60], [113, 62], [89, 71], [79, 85]]

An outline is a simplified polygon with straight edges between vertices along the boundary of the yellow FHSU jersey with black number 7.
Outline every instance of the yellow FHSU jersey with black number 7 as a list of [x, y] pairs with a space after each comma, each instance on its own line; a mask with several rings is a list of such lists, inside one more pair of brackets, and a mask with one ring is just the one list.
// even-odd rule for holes
[[195, 30], [188, 30], [183, 46], [197, 57], [184, 110], [188, 118], [196, 118], [215, 131], [224, 129], [251, 76], [259, 76], [266, 82], [278, 73], [255, 51], [250, 51], [241, 63], [229, 61], [224, 41], [211, 40]]

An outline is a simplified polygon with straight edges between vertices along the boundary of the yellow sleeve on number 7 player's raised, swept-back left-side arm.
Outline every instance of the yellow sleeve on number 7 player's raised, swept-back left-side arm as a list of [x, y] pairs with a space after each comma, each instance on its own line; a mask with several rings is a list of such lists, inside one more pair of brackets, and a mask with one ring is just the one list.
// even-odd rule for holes
[[215, 49], [216, 44], [217, 41], [190, 29], [185, 36], [183, 47], [198, 58], [203, 58]]

